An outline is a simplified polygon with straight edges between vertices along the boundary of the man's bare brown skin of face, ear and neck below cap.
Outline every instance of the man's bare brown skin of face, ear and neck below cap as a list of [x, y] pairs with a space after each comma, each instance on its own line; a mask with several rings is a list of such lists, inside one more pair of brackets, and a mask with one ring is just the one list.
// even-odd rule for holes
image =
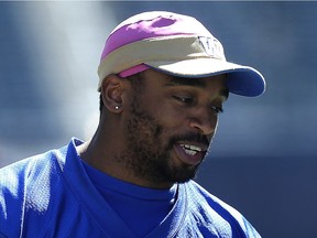
[[178, 78], [147, 69], [142, 80], [142, 88], [117, 75], [103, 80], [98, 129], [77, 150], [113, 177], [168, 188], [193, 178], [203, 162], [228, 98], [226, 77]]

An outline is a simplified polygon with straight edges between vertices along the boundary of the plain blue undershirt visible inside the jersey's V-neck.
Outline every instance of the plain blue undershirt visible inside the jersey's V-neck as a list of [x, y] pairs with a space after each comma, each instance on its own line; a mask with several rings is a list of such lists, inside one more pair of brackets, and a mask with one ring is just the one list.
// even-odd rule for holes
[[136, 237], [145, 237], [173, 208], [177, 184], [170, 190], [151, 190], [111, 177], [85, 162], [83, 164], [105, 201]]

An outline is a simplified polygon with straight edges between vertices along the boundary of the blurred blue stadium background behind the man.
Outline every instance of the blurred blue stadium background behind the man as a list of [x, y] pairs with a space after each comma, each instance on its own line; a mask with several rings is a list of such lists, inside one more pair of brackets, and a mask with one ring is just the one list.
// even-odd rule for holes
[[0, 2], [0, 166], [88, 139], [97, 67], [128, 17], [199, 19], [229, 61], [266, 78], [259, 98], [231, 95], [197, 181], [270, 238], [317, 234], [317, 2]]

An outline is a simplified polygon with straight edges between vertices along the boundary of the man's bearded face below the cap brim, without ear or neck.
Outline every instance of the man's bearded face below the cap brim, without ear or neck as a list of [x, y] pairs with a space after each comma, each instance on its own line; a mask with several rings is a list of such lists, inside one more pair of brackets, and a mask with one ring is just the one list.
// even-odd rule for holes
[[186, 182], [216, 132], [228, 98], [225, 76], [178, 78], [149, 69], [142, 80], [140, 90], [131, 87], [121, 162], [153, 184]]

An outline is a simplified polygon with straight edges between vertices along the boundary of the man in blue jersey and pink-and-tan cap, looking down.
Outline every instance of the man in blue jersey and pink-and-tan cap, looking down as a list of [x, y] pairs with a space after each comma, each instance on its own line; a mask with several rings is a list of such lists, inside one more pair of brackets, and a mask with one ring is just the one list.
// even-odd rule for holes
[[229, 93], [259, 96], [254, 68], [228, 63], [196, 19], [144, 12], [109, 35], [90, 141], [0, 172], [2, 237], [260, 237], [195, 183]]

